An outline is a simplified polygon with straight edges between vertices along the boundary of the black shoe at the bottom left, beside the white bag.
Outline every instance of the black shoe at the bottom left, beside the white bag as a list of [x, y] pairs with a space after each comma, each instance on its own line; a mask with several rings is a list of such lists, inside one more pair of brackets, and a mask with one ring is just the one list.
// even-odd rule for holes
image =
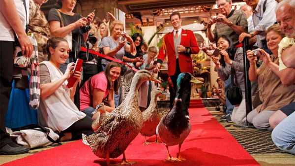
[[0, 148], [0, 155], [18, 155], [28, 153], [29, 148], [26, 146], [20, 146], [14, 142], [10, 142]]

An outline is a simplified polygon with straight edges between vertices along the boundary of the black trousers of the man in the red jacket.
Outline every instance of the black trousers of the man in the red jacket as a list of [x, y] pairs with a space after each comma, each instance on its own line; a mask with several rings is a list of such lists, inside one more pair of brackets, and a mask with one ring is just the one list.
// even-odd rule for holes
[[[176, 70], [175, 74], [171, 75], [171, 81], [173, 83], [173, 87], [169, 87], [170, 92], [170, 109], [173, 107], [173, 102], [176, 97], [176, 90], [177, 90], [177, 77], [181, 73], [179, 68], [179, 62], [178, 59], [176, 60]], [[188, 107], [190, 102], [190, 94], [191, 94], [191, 84], [187, 83], [187, 85], [184, 85], [183, 91], [181, 93], [181, 109], [185, 112], [185, 115], [188, 115]]]

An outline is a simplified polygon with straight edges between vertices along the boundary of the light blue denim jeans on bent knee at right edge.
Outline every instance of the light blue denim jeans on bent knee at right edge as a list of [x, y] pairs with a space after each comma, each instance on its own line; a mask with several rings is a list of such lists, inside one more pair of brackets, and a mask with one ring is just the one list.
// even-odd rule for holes
[[278, 148], [295, 155], [295, 112], [273, 129], [271, 138]]

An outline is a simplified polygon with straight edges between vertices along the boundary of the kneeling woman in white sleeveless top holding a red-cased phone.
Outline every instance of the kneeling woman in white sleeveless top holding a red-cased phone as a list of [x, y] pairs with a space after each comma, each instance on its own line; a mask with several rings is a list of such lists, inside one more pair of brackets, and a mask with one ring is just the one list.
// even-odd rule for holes
[[[40, 64], [40, 109], [38, 121], [42, 126], [59, 131], [60, 141], [81, 139], [81, 134], [92, 133], [92, 119], [79, 111], [73, 102], [81, 71], [73, 71], [74, 63], [68, 64], [64, 74], [59, 66], [69, 57], [69, 45], [64, 38], [53, 37], [47, 41], [50, 60]], [[77, 78], [72, 88], [67, 88], [70, 76]]]

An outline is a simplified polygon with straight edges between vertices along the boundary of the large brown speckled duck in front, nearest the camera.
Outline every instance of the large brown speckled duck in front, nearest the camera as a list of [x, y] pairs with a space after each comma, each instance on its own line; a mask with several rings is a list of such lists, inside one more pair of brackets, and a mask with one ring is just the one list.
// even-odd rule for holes
[[161, 82], [153, 78], [148, 70], [137, 71], [124, 101], [106, 117], [96, 132], [83, 135], [83, 142], [89, 144], [96, 156], [107, 159], [108, 166], [111, 165], [110, 158], [117, 158], [121, 154], [122, 165], [134, 164], [127, 161], [124, 151], [138, 135], [144, 122], [138, 106], [138, 89], [147, 80]]

